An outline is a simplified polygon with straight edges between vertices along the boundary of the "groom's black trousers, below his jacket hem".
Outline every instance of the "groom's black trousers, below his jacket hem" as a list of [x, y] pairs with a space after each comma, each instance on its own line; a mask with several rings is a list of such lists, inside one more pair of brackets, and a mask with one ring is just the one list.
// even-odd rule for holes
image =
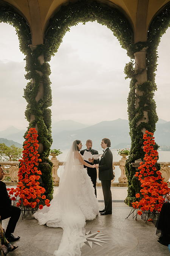
[[104, 202], [105, 202], [105, 210], [111, 211], [112, 210], [112, 197], [111, 197], [111, 180], [110, 181], [101, 181], [102, 183], [102, 190], [104, 195]]

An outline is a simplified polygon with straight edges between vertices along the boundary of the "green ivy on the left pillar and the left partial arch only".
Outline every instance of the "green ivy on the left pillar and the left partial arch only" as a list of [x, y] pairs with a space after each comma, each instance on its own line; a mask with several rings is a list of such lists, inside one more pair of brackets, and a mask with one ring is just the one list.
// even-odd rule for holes
[[[51, 87], [50, 87], [50, 68], [49, 64], [44, 62], [42, 65], [38, 60], [40, 55], [46, 55], [46, 47], [43, 45], [37, 46], [32, 52], [29, 45], [31, 44], [31, 32], [28, 23], [20, 16], [15, 9], [11, 6], [1, 3], [0, 6], [0, 22], [9, 23], [15, 27], [17, 32], [20, 50], [26, 55], [26, 79], [34, 79], [34, 86], [32, 87], [31, 81], [28, 82], [24, 90], [24, 97], [28, 102], [26, 107], [25, 116], [29, 122], [28, 129], [24, 135], [26, 138], [30, 128], [36, 127], [39, 129], [39, 143], [43, 144], [43, 152], [40, 154], [42, 163], [40, 164], [40, 170], [42, 172], [42, 185], [46, 192], [46, 198], [51, 200], [53, 198], [53, 178], [52, 167], [53, 163], [48, 159], [50, 148], [52, 144], [51, 136], [51, 110], [48, 107], [52, 104]], [[42, 72], [42, 77], [38, 72]], [[43, 82], [44, 96], [39, 102], [36, 102], [35, 98], [39, 91], [39, 84]], [[31, 114], [34, 115], [35, 120], [30, 123]], [[24, 146], [24, 143], [23, 143]]]

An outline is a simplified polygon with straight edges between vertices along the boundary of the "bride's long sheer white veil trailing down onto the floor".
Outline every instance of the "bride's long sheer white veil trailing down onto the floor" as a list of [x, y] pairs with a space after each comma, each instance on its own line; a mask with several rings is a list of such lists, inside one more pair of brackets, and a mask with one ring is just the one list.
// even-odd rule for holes
[[63, 236], [55, 256], [81, 255], [83, 236], [85, 235], [85, 217], [77, 204], [80, 191], [80, 181], [77, 177], [76, 165], [77, 142], [74, 141], [63, 163], [60, 174], [59, 211]]

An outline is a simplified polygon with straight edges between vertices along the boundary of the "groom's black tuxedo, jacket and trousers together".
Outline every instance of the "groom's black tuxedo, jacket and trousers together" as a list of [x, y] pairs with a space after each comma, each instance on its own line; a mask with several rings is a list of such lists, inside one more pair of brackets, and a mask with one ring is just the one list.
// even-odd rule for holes
[[102, 183], [102, 190], [104, 195], [105, 210], [112, 210], [111, 198], [111, 180], [114, 178], [113, 174], [113, 154], [109, 148], [103, 153], [99, 162], [99, 180]]

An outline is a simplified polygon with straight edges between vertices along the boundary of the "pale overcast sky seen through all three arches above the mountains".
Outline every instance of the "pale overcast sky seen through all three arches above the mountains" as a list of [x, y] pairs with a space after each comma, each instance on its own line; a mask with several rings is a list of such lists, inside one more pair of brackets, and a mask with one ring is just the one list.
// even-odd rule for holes
[[[0, 131], [11, 125], [26, 129], [27, 103], [22, 96], [28, 81], [24, 77], [24, 55], [11, 25], [1, 23], [0, 35]], [[158, 48], [155, 93], [158, 116], [166, 121], [170, 121], [169, 41], [170, 29], [162, 36]], [[52, 123], [71, 119], [93, 125], [128, 119], [130, 79], [124, 79], [124, 66], [129, 61], [126, 50], [107, 27], [97, 22], [71, 27], [49, 63]]]

